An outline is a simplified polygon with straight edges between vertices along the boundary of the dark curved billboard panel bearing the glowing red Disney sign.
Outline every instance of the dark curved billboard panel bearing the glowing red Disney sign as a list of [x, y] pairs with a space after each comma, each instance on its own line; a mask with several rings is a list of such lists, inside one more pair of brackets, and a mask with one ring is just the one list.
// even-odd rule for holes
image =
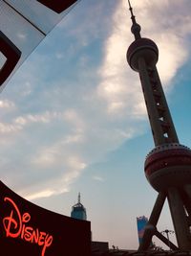
[[90, 221], [43, 209], [0, 181], [0, 252], [4, 256], [91, 255]]

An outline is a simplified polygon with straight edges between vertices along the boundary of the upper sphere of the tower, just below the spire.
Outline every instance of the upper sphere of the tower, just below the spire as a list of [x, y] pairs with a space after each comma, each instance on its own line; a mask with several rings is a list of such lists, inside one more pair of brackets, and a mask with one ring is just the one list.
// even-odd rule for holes
[[138, 58], [144, 58], [150, 67], [156, 65], [159, 58], [157, 44], [148, 38], [135, 40], [127, 50], [127, 61], [131, 68], [138, 72]]

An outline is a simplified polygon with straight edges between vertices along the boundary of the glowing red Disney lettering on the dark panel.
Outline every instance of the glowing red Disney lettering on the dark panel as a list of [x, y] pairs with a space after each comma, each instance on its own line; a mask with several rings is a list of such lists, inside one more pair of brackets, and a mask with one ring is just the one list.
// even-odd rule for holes
[[4, 201], [10, 202], [12, 206], [10, 216], [3, 219], [6, 236], [20, 238], [24, 241], [42, 246], [41, 256], [44, 256], [47, 247], [53, 243], [53, 236], [39, 231], [38, 228], [34, 229], [32, 226], [27, 225], [31, 220], [31, 215], [29, 213], [21, 215], [17, 205], [11, 198], [4, 198]]

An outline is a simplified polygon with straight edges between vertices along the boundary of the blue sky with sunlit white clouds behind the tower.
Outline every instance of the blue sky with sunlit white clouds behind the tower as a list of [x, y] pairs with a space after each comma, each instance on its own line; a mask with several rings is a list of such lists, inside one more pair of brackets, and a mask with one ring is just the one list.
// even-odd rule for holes
[[[159, 46], [159, 75], [180, 143], [191, 147], [191, 2], [132, 0], [141, 35]], [[46, 36], [0, 95], [1, 180], [70, 215], [81, 192], [93, 239], [137, 248], [136, 217], [157, 193], [143, 164], [154, 148], [125, 0], [81, 0]], [[168, 207], [159, 231], [173, 229]], [[159, 242], [156, 240], [156, 243]]]

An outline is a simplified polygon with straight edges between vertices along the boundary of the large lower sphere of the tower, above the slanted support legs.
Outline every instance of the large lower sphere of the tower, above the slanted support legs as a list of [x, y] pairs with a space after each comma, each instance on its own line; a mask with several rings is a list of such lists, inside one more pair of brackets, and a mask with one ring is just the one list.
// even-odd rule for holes
[[157, 191], [191, 184], [191, 150], [178, 143], [158, 146], [147, 155], [144, 171]]

